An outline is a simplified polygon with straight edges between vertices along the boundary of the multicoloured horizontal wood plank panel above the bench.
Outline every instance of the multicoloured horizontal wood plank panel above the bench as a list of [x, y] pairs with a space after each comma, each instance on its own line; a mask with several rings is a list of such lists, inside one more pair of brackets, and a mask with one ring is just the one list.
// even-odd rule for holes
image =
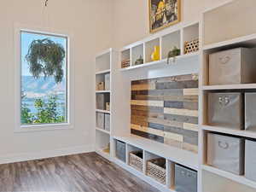
[[197, 153], [198, 75], [132, 81], [131, 133]]

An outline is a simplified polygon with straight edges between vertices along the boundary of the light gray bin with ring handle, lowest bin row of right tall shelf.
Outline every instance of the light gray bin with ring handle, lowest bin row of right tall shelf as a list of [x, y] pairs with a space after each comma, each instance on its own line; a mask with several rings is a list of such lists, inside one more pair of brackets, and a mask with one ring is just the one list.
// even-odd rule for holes
[[236, 175], [244, 174], [245, 140], [214, 133], [207, 134], [207, 164]]

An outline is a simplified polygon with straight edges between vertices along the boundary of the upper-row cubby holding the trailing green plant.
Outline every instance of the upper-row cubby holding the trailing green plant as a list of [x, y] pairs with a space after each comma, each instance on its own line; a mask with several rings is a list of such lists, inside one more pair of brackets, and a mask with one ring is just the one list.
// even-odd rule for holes
[[169, 51], [172, 51], [174, 47], [181, 49], [181, 32], [172, 32], [162, 37], [162, 47], [161, 47], [161, 57], [166, 59], [168, 57]]

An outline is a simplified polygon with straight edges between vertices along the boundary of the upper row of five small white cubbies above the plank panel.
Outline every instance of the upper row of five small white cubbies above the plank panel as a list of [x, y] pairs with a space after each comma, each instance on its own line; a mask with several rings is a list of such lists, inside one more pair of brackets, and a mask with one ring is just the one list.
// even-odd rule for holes
[[[171, 65], [178, 65], [189, 57], [199, 57], [200, 52], [190, 54], [184, 53], [185, 42], [199, 39], [199, 23], [194, 22], [189, 25], [178, 27], [176, 30], [157, 33], [152, 37], [145, 38], [135, 44], [130, 44], [121, 49], [121, 61], [129, 59], [130, 67], [120, 68], [120, 71], [130, 71], [132, 69], [144, 67], [160, 67], [167, 65], [167, 57], [170, 50], [174, 47], [181, 50], [181, 55], [170, 60]], [[160, 47], [160, 60], [152, 61], [151, 55], [154, 52], [154, 46]], [[142, 56], [143, 64], [135, 65], [135, 61]], [[121, 64], [119, 64], [121, 66]]]

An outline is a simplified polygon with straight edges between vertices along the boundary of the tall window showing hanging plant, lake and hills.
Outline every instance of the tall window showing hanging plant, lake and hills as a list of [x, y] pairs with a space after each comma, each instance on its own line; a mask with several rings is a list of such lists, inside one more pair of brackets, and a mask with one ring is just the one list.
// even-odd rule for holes
[[21, 31], [20, 59], [20, 125], [67, 123], [67, 38]]

